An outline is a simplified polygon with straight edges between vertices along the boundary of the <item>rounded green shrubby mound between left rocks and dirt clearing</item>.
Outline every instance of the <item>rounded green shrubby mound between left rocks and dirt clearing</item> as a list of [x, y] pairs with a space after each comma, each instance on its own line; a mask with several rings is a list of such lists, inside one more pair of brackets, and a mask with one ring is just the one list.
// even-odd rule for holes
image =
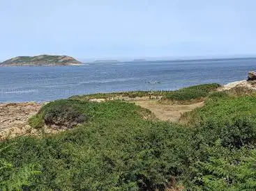
[[29, 119], [29, 124], [33, 128], [41, 128], [45, 124], [73, 127], [74, 124], [81, 124], [86, 121], [122, 119], [123, 116], [153, 118], [149, 110], [124, 101], [96, 103], [62, 99], [43, 106], [36, 115]]

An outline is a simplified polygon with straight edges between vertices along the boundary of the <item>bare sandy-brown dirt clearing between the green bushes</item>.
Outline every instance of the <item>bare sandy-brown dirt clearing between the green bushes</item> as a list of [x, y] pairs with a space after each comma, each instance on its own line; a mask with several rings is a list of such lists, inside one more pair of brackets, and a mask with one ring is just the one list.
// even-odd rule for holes
[[204, 101], [189, 105], [178, 105], [172, 103], [159, 103], [157, 100], [133, 100], [135, 104], [151, 110], [156, 117], [163, 121], [178, 122], [181, 114], [191, 111], [195, 108], [204, 106]]

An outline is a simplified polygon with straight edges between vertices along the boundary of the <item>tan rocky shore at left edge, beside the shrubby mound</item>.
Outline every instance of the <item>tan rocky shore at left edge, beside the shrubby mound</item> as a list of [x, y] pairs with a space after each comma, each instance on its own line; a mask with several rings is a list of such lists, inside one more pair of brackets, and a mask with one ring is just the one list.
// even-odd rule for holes
[[43, 103], [0, 103], [0, 140], [31, 133], [28, 119]]

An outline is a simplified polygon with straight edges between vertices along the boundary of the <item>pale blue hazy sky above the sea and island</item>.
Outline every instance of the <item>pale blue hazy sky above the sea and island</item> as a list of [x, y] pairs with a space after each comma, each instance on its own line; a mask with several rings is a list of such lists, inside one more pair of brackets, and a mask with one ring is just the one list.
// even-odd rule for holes
[[256, 56], [255, 0], [0, 0], [0, 60]]

